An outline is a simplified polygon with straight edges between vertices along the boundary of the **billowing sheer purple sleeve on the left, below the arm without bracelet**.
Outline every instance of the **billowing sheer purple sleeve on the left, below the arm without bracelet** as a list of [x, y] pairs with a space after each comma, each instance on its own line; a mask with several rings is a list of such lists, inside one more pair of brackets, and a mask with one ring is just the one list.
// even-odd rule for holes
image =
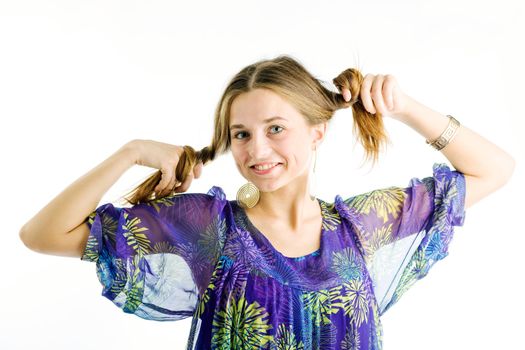
[[225, 238], [226, 196], [178, 193], [130, 208], [106, 203], [87, 218], [81, 260], [96, 263], [102, 295], [148, 320], [190, 317]]

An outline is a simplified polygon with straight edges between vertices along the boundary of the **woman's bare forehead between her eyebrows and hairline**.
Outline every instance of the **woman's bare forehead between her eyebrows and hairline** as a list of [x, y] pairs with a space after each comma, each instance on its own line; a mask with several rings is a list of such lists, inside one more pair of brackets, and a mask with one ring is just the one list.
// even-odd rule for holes
[[234, 99], [230, 109], [230, 126], [262, 123], [272, 117], [291, 122], [302, 119], [301, 114], [280, 95], [268, 89], [254, 89]]

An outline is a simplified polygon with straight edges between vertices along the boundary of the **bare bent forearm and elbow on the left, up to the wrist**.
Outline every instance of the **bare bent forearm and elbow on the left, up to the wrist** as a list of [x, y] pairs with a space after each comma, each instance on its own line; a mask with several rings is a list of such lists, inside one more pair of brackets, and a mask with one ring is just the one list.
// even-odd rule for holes
[[134, 142], [122, 146], [41, 209], [21, 228], [22, 242], [39, 253], [79, 257], [89, 234], [83, 222], [104, 193], [136, 164]]

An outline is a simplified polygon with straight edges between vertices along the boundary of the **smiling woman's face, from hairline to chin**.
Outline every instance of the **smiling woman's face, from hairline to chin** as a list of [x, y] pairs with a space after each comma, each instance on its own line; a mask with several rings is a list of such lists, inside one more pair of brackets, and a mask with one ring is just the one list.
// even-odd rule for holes
[[[237, 169], [262, 192], [273, 192], [296, 179], [307, 183], [314, 143], [322, 140], [325, 124], [310, 127], [291, 104], [267, 89], [237, 96], [230, 111]], [[259, 163], [278, 164], [263, 172], [253, 167]]]

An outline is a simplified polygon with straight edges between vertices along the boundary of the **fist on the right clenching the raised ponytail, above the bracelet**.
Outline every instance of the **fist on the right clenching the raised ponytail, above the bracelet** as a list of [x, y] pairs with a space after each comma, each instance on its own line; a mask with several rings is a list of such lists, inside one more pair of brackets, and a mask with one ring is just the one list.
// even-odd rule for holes
[[[350, 90], [342, 91], [345, 100], [350, 99]], [[397, 119], [406, 112], [409, 97], [401, 91], [396, 78], [391, 75], [367, 74], [363, 78], [360, 91], [361, 101], [365, 109], [376, 114]]]

